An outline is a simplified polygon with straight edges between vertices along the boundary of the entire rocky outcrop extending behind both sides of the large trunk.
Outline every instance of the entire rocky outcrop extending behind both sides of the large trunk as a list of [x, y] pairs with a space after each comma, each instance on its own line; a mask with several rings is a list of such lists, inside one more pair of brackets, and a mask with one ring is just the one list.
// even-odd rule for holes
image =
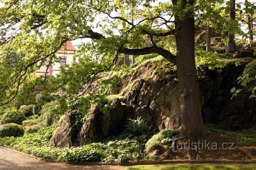
[[[230, 63], [221, 72], [201, 68], [200, 102], [205, 122], [229, 130], [256, 125], [255, 100], [249, 98], [249, 93], [239, 94], [230, 100], [230, 89], [238, 86], [237, 77], [242, 74], [245, 65]], [[53, 135], [52, 145], [70, 147], [102, 141], [108, 136], [118, 135], [129, 118], [142, 117], [154, 132], [179, 128], [180, 101], [176, 72], [171, 64], [156, 69], [151, 61], [124, 76], [119, 91], [123, 97], [110, 101], [112, 107], [107, 112], [100, 110], [98, 105], [91, 107], [91, 116], [81, 127], [76, 127], [76, 118], [66, 113]]]

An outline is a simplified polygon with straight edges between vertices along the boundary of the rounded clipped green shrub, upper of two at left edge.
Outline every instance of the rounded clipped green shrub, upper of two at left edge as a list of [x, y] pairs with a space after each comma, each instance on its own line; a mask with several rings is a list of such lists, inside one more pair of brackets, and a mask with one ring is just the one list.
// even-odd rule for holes
[[3, 114], [0, 124], [16, 123], [21, 125], [24, 120], [26, 117], [20, 110], [11, 110]]

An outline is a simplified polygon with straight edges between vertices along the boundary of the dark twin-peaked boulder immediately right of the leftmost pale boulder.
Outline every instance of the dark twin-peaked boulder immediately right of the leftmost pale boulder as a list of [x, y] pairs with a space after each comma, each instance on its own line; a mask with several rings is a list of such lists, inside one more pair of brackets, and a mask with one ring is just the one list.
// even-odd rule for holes
[[125, 107], [118, 98], [111, 102], [112, 108], [102, 112], [97, 105], [91, 107], [91, 117], [85, 122], [77, 134], [80, 145], [100, 142], [102, 139], [118, 135], [125, 122]]

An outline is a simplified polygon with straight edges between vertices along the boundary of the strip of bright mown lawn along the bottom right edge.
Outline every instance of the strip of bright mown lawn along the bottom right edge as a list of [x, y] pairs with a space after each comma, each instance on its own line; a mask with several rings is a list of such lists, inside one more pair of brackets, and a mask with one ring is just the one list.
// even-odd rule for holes
[[124, 170], [237, 170], [237, 169], [256, 169], [255, 165], [137, 165], [125, 168]]

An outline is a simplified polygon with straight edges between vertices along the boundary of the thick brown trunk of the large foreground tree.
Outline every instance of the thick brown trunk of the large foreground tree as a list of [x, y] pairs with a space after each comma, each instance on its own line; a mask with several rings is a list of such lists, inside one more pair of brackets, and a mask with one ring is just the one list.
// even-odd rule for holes
[[[186, 3], [183, 1], [183, 9]], [[177, 0], [172, 0], [176, 4]], [[182, 10], [182, 9], [181, 9]], [[191, 13], [181, 20], [175, 16], [175, 40], [177, 48], [177, 74], [181, 102], [181, 137], [198, 142], [204, 136], [204, 125], [200, 109], [199, 83], [195, 64], [195, 21]], [[197, 158], [196, 150], [186, 146], [189, 159]]]

